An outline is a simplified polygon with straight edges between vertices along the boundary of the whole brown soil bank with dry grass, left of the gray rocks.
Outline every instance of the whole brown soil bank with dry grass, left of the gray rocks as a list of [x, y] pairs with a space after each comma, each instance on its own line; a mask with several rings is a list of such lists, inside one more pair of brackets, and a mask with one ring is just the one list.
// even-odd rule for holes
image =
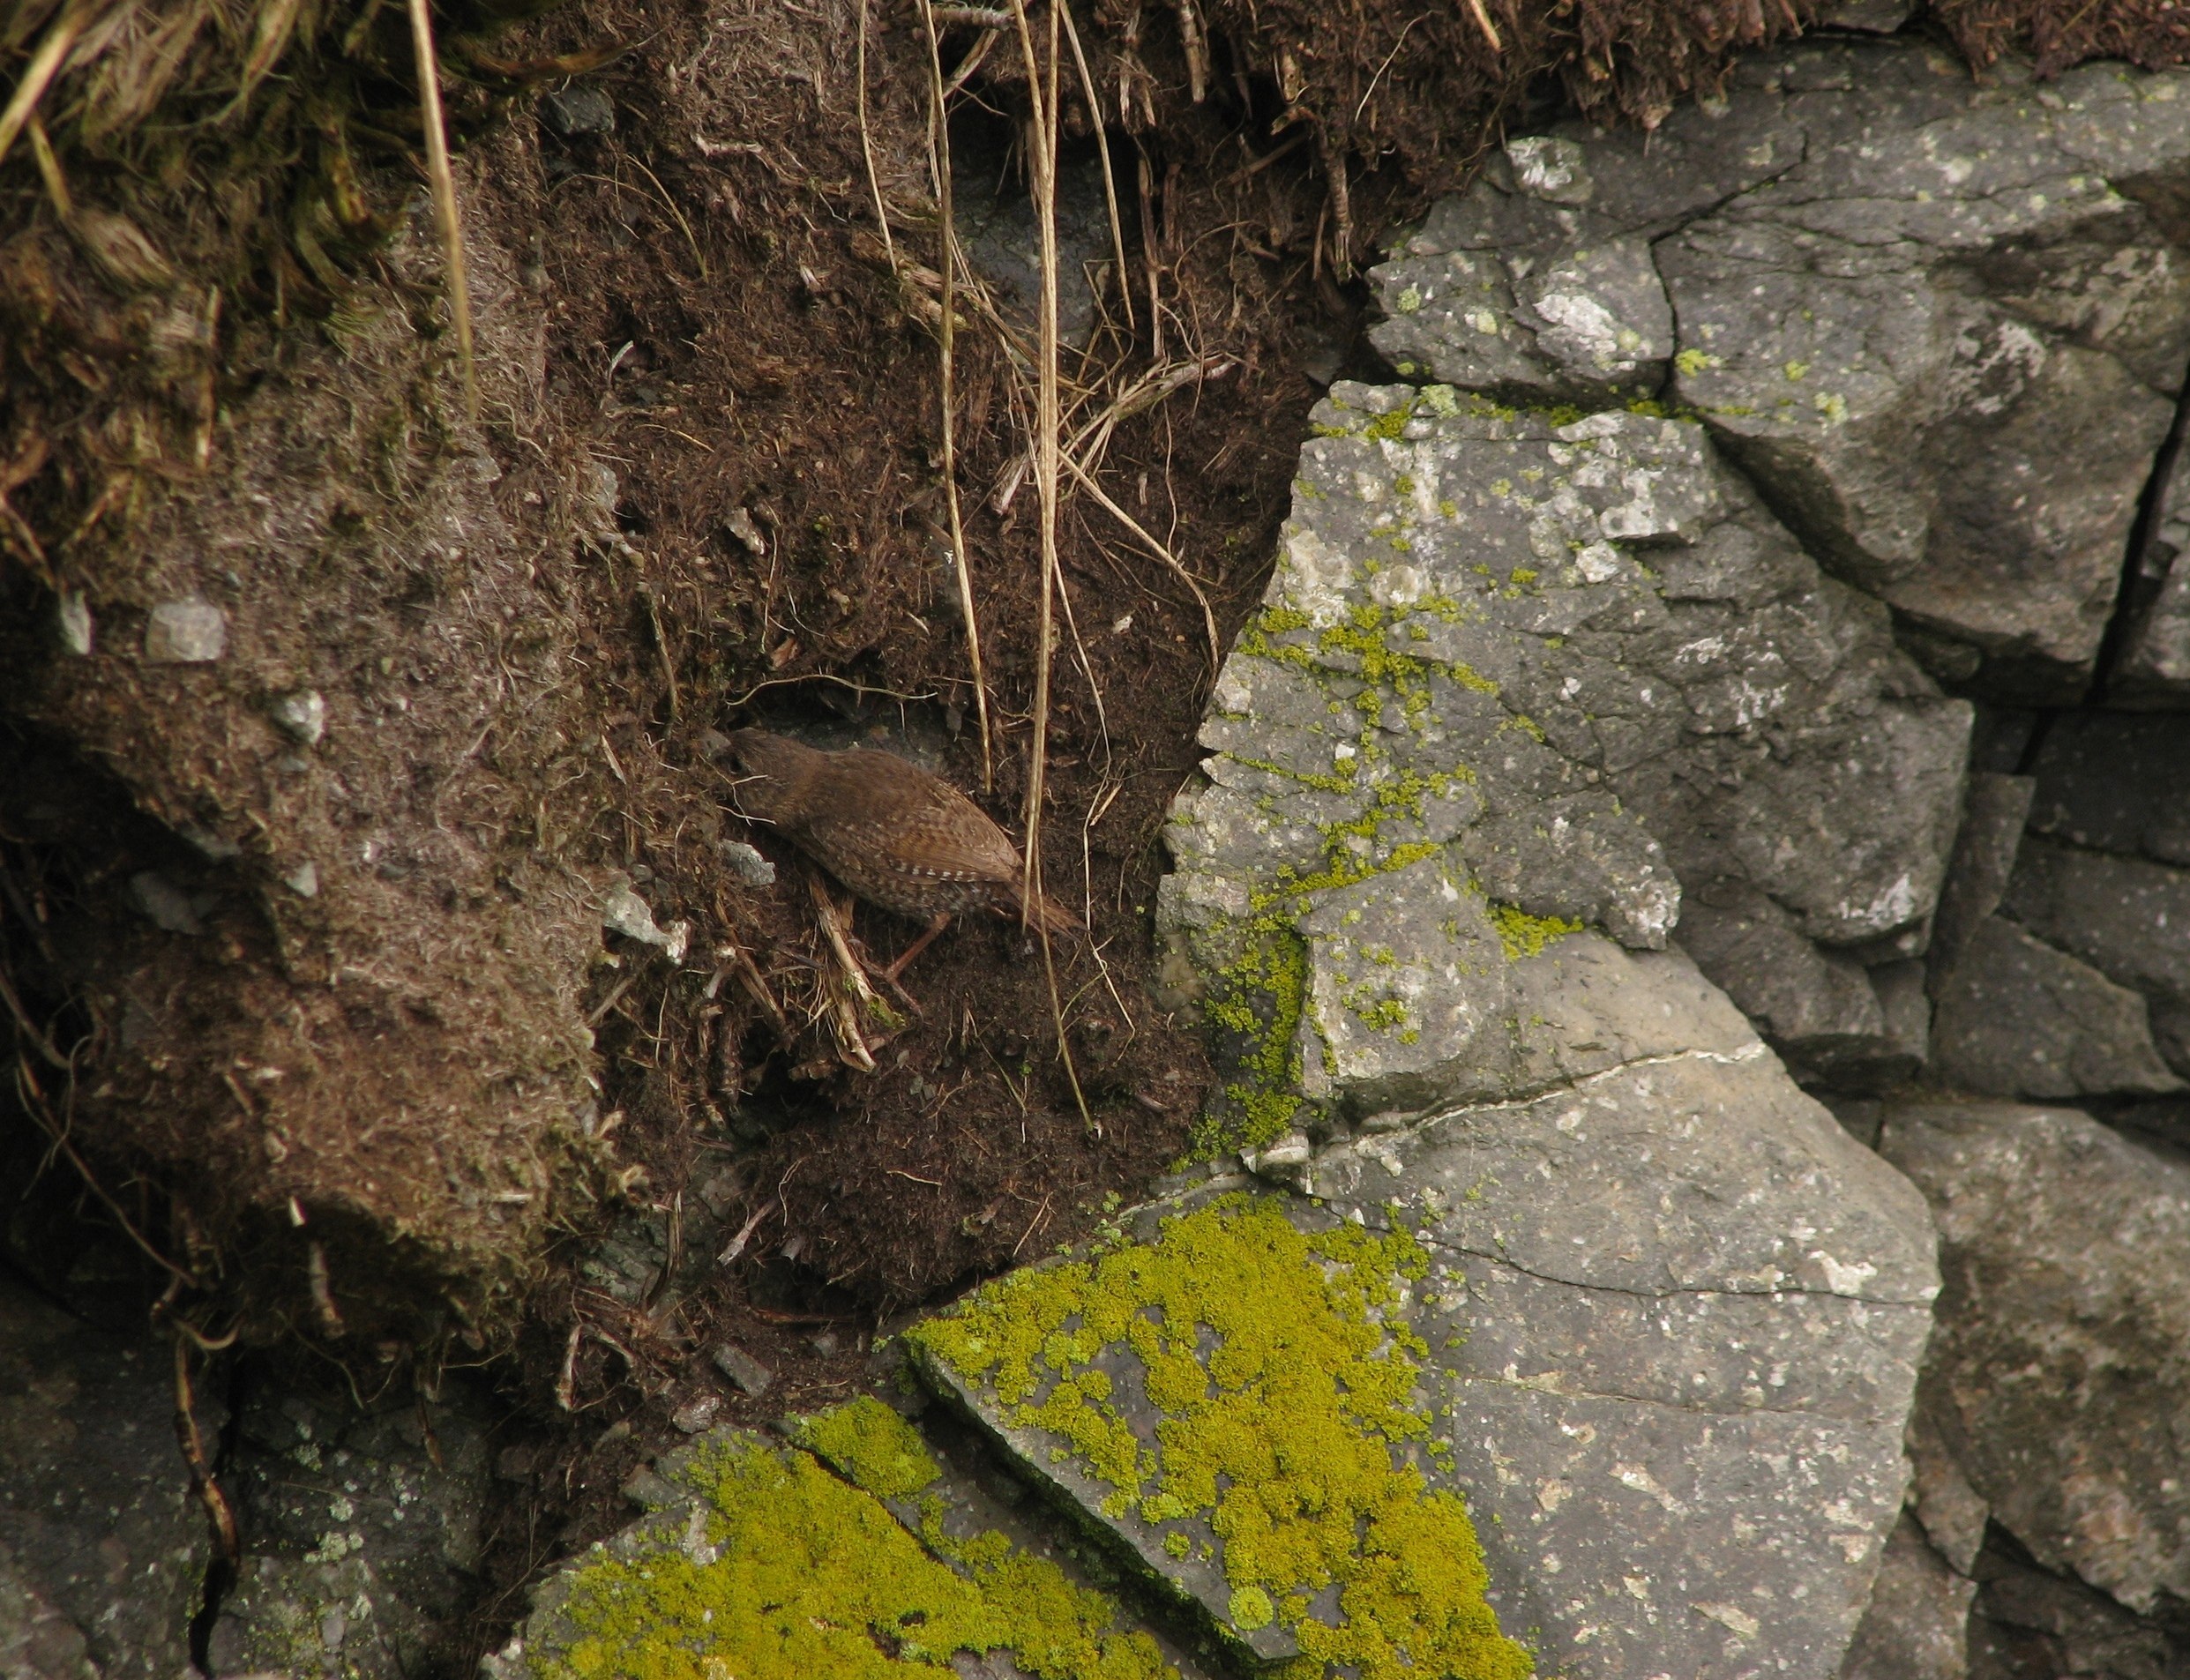
[[[1012, 31], [940, 13], [948, 131], [1010, 177]], [[753, 718], [909, 734], [983, 786], [918, 13], [442, 11], [473, 403], [401, 7], [0, 22], [0, 1159], [37, 1178], [9, 1216], [24, 1264], [59, 1264], [28, 1238], [59, 1187], [199, 1330], [300, 1330], [355, 1365], [495, 1338], [528, 1299], [561, 1330], [587, 1308], [534, 1286], [563, 1235], [677, 1209], [721, 1163], [740, 1264], [780, 1251], [889, 1303], [1060, 1242], [1176, 1159], [1207, 1067], [1161, 1008], [1148, 907], [1211, 648], [1154, 550], [1226, 635], [1303, 370], [1349, 355], [1353, 263], [1526, 101], [1653, 123], [1820, 11], [1077, 22], [1095, 101], [1069, 74], [1062, 127], [1108, 138], [1123, 265], [1095, 269], [1067, 429], [1110, 414], [1115, 508], [1075, 495], [1060, 521], [1042, 852], [1093, 935], [1051, 977], [1016, 929], [955, 929], [898, 1023], [843, 1001], [793, 852], [760, 837], [773, 885], [725, 856], [753, 835], [710, 749]], [[2190, 42], [2157, 4], [1903, 26], [1978, 66]], [[1010, 309], [966, 311], [955, 405], [1005, 819], [1040, 664], [1018, 340]], [[622, 885], [675, 959], [602, 933]], [[878, 957], [909, 933], [854, 922]], [[604, 1325], [565, 1389], [639, 1332]]]

